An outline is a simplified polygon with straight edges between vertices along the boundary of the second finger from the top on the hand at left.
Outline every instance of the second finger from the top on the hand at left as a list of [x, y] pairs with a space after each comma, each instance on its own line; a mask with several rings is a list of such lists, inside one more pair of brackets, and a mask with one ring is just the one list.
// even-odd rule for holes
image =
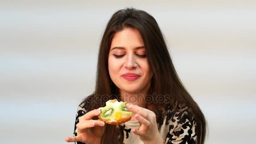
[[86, 120], [85, 122], [82, 123], [77, 123], [76, 127], [79, 130], [83, 130], [85, 128], [92, 128], [94, 126], [104, 126], [105, 123], [101, 120]]

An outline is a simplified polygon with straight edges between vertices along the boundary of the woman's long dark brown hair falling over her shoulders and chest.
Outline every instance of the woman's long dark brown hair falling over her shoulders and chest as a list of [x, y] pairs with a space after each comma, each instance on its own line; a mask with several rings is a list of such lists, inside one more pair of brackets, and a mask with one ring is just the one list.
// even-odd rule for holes
[[[181, 83], [157, 21], [149, 13], [135, 8], [126, 8], [115, 12], [107, 23], [99, 47], [95, 91], [83, 101], [87, 102], [87, 110], [90, 111], [104, 107], [105, 102], [109, 99], [120, 99], [118, 97], [119, 93], [117, 93], [118, 88], [109, 76], [108, 54], [113, 35], [125, 27], [137, 29], [144, 41], [146, 57], [149, 67], [153, 72], [149, 93], [155, 93], [156, 96], [171, 97], [167, 104], [152, 103], [154, 107], [152, 111], [157, 116], [157, 123], [160, 123], [160, 125], [163, 124], [164, 111], [160, 111], [159, 109], [172, 107], [173, 112], [178, 112], [177, 102], [179, 104], [185, 104], [189, 107], [197, 123], [195, 129], [197, 144], [203, 144], [206, 133], [206, 121], [203, 112]], [[109, 133], [113, 134], [108, 136]], [[122, 130], [117, 125], [106, 124], [104, 134], [101, 138], [101, 144], [110, 143], [123, 144]]]

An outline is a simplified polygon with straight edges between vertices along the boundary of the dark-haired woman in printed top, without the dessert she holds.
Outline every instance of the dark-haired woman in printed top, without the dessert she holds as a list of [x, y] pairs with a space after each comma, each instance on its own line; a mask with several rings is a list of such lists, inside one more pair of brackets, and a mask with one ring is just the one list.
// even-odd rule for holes
[[[109, 99], [128, 102], [130, 121], [97, 120]], [[126, 8], [109, 20], [101, 39], [96, 88], [79, 105], [76, 144], [203, 144], [206, 122], [182, 85], [157, 21]]]

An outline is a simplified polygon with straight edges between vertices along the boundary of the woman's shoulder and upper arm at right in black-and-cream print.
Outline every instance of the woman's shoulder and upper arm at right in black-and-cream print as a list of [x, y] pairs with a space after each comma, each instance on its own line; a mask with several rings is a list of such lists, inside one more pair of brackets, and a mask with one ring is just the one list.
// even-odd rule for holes
[[176, 111], [168, 109], [165, 117], [165, 125], [169, 127], [166, 136], [168, 144], [195, 144], [196, 121], [187, 106], [179, 105]]

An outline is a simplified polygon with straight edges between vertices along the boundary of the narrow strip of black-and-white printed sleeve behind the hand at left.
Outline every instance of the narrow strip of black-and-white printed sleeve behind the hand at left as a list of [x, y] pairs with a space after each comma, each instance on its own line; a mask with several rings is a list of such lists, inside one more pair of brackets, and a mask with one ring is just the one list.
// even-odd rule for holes
[[[73, 136], [77, 136], [77, 127], [76, 127], [76, 125], [77, 125], [77, 123], [79, 123], [79, 118], [81, 116], [85, 115], [86, 112], [87, 112], [85, 110], [84, 106], [85, 106], [85, 103], [82, 103], [77, 108], [77, 113], [76, 113], [76, 116], [75, 116], [75, 129], [74, 129]], [[85, 144], [85, 143], [80, 142], [80, 141], [76, 141], [75, 144]]]

